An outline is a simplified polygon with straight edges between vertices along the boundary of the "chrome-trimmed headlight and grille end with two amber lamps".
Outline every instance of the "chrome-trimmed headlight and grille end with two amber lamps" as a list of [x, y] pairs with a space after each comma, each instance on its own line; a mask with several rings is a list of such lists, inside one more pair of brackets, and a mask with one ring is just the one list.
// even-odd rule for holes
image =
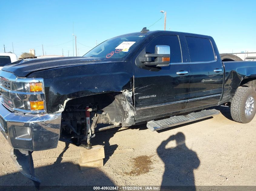
[[42, 78], [17, 78], [0, 71], [2, 104], [11, 111], [29, 114], [46, 113], [45, 88]]

